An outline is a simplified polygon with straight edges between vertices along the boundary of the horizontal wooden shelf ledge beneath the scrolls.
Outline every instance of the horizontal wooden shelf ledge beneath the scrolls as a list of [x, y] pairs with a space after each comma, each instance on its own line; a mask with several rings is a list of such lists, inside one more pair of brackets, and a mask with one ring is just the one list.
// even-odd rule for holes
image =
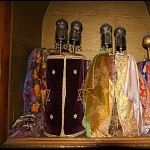
[[150, 148], [150, 137], [143, 138], [8, 138], [0, 148]]

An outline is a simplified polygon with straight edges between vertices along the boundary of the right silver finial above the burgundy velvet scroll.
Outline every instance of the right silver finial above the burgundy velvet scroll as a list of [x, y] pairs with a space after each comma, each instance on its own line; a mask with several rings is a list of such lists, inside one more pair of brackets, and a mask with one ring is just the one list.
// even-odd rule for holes
[[72, 52], [75, 53], [75, 47], [81, 44], [82, 23], [78, 20], [71, 23], [69, 43], [72, 45]]

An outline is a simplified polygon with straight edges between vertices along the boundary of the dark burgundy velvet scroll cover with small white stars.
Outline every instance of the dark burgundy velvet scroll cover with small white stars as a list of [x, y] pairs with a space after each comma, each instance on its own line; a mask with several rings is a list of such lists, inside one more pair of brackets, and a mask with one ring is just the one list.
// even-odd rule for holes
[[47, 136], [74, 137], [80, 135], [81, 131], [84, 132], [82, 94], [80, 95], [78, 90], [86, 77], [87, 65], [87, 60], [84, 59], [66, 59], [66, 97], [63, 103], [64, 59], [47, 60], [47, 101], [44, 114], [44, 132]]

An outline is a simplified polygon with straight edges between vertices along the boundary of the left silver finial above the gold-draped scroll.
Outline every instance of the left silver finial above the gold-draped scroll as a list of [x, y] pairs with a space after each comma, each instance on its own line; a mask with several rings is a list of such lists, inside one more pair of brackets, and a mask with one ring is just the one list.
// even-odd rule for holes
[[112, 26], [104, 23], [100, 27], [101, 47], [112, 48]]

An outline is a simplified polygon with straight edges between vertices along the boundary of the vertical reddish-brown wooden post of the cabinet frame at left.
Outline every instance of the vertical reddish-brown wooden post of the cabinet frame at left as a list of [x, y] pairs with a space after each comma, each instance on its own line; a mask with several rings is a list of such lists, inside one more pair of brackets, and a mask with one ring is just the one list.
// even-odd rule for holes
[[0, 1], [0, 144], [7, 140], [9, 123], [9, 82], [12, 2]]

